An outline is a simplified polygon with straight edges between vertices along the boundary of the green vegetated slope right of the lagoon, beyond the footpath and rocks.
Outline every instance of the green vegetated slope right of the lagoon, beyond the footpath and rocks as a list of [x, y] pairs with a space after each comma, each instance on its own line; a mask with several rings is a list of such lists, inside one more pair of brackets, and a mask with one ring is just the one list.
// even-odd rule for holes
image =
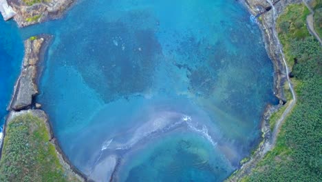
[[306, 14], [303, 5], [291, 5], [277, 21], [298, 101], [276, 147], [243, 181], [322, 181], [322, 48], [306, 30]]

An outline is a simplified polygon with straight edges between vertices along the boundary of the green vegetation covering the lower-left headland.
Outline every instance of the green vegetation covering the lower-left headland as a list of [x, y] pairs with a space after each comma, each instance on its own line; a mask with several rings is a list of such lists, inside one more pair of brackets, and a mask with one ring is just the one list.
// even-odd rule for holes
[[45, 122], [23, 114], [8, 123], [0, 181], [77, 181], [61, 163]]

